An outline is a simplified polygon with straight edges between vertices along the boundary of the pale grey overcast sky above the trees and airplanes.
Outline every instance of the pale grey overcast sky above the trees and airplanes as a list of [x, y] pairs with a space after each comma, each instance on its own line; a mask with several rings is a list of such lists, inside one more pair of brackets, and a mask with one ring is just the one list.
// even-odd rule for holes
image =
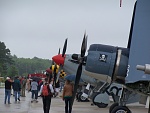
[[0, 0], [0, 41], [12, 55], [51, 59], [88, 44], [126, 47], [135, 0]]

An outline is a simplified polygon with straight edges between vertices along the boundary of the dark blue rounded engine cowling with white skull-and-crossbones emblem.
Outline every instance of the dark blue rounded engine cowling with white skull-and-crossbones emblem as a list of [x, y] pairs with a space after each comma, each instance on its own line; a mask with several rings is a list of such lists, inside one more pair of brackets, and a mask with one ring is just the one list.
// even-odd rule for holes
[[124, 83], [128, 67], [127, 48], [92, 44], [88, 50], [85, 73], [96, 79]]

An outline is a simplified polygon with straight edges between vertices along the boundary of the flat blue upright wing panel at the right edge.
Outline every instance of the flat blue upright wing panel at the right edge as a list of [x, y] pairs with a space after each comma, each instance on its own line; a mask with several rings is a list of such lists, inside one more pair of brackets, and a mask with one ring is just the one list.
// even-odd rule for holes
[[150, 64], [150, 0], [137, 0], [126, 82], [150, 80], [150, 75], [136, 69]]

